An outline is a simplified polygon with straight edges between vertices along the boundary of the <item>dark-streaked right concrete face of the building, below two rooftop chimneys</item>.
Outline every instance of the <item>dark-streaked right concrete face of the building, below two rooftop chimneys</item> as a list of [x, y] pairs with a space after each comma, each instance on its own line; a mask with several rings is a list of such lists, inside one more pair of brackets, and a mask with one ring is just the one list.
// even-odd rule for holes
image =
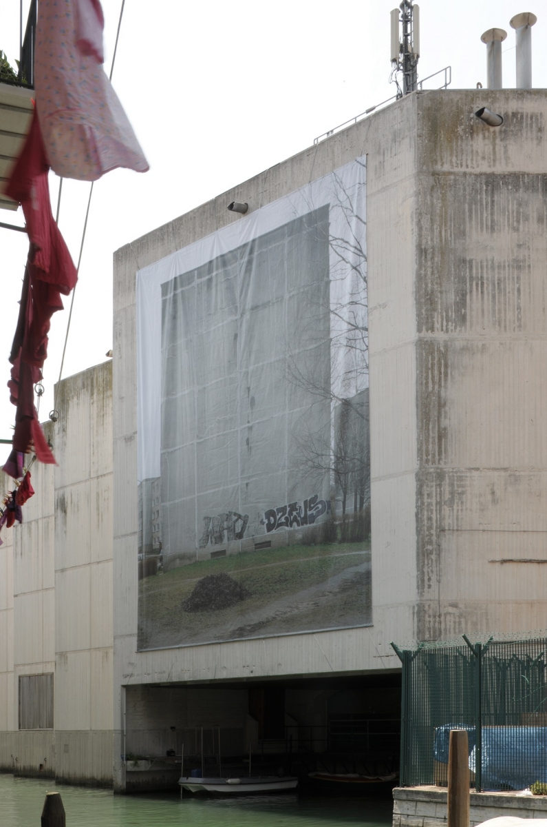
[[547, 627], [546, 97], [419, 98], [420, 639]]

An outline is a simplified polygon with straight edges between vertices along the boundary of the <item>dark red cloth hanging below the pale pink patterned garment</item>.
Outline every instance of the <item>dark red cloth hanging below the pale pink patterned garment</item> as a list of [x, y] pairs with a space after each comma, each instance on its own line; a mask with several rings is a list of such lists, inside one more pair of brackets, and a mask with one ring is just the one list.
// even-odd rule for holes
[[40, 123], [34, 111], [31, 129], [17, 160], [6, 193], [21, 203], [30, 248], [13, 338], [12, 378], [7, 383], [17, 407], [13, 451], [3, 470], [21, 471], [19, 455], [34, 451], [41, 462], [55, 463], [34, 405], [34, 385], [40, 381], [47, 356], [50, 319], [63, 309], [60, 294], [68, 295], [77, 281], [76, 268], [51, 212], [48, 172]]

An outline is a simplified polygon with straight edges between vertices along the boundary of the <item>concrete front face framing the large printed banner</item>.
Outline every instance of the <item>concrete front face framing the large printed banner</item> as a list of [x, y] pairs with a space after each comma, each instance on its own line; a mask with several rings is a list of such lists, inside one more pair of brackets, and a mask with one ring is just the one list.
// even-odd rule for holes
[[[136, 270], [238, 220], [232, 200], [259, 208], [368, 154], [374, 629], [300, 634], [136, 653]], [[117, 755], [123, 689], [397, 668], [389, 641], [412, 623], [416, 600], [416, 369], [413, 312], [416, 97], [284, 161], [117, 251], [114, 259], [114, 584]], [[397, 392], [396, 392], [397, 391]], [[393, 561], [397, 560], [397, 565]], [[124, 787], [117, 762], [115, 786]]]

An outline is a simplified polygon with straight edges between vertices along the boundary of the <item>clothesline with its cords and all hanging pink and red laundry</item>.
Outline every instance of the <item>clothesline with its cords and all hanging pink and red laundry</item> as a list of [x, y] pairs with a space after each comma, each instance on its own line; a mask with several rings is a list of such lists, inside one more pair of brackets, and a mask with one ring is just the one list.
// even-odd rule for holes
[[[38, 8], [33, 55], [36, 108], [6, 187], [7, 194], [22, 205], [30, 246], [10, 355], [12, 378], [8, 385], [12, 403], [17, 407], [15, 433], [12, 452], [2, 469], [12, 477], [15, 488], [2, 498], [5, 508], [0, 506], [0, 528], [3, 524], [9, 528], [15, 520], [21, 522], [21, 506], [34, 494], [29, 472], [33, 463], [55, 463], [51, 443], [40, 426], [35, 394], [39, 409], [50, 320], [63, 309], [61, 294], [72, 291], [55, 390], [57, 404], [94, 181], [117, 167], [148, 170], [139, 142], [110, 84], [124, 7], [125, 0], [121, 0], [108, 79], [101, 66], [104, 17], [99, 0], [57, 0]], [[55, 220], [48, 184], [50, 169], [59, 175]], [[77, 267], [59, 232], [64, 178], [92, 182]], [[57, 419], [55, 409], [50, 419]], [[34, 456], [25, 466], [25, 457], [31, 453]]]

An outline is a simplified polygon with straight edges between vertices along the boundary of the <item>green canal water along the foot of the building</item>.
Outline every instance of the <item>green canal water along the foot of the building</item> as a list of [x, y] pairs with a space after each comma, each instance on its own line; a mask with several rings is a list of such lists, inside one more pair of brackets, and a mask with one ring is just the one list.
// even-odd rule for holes
[[112, 791], [0, 775], [0, 825], [39, 827], [45, 793], [58, 790], [67, 827], [388, 827], [391, 801], [249, 796], [183, 800], [169, 793], [114, 796]]

